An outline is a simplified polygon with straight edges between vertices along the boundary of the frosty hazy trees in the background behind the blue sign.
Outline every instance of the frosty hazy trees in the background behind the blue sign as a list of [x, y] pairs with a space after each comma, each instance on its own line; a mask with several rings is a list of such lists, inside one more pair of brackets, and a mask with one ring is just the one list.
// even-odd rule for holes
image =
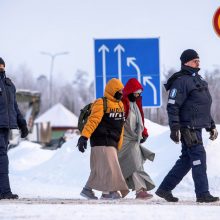
[[[167, 125], [167, 96], [163, 84], [177, 70], [170, 69], [162, 74], [162, 106], [160, 108], [145, 108], [145, 118], [158, 124]], [[40, 114], [54, 104], [60, 102], [77, 116], [80, 109], [87, 103], [92, 102], [94, 97], [94, 82], [89, 80], [89, 74], [83, 70], [77, 70], [71, 75], [69, 80], [60, 77], [53, 79], [52, 83], [52, 99], [50, 99], [50, 81], [46, 75], [35, 77], [33, 72], [26, 65], [20, 66], [18, 69], [8, 71], [7, 75], [13, 80], [17, 89], [27, 89], [31, 91], [41, 92], [41, 110]], [[206, 71], [202, 75], [209, 84], [209, 90], [212, 95], [212, 116], [217, 124], [220, 124], [220, 69]], [[25, 80], [24, 80], [25, 79]]]

